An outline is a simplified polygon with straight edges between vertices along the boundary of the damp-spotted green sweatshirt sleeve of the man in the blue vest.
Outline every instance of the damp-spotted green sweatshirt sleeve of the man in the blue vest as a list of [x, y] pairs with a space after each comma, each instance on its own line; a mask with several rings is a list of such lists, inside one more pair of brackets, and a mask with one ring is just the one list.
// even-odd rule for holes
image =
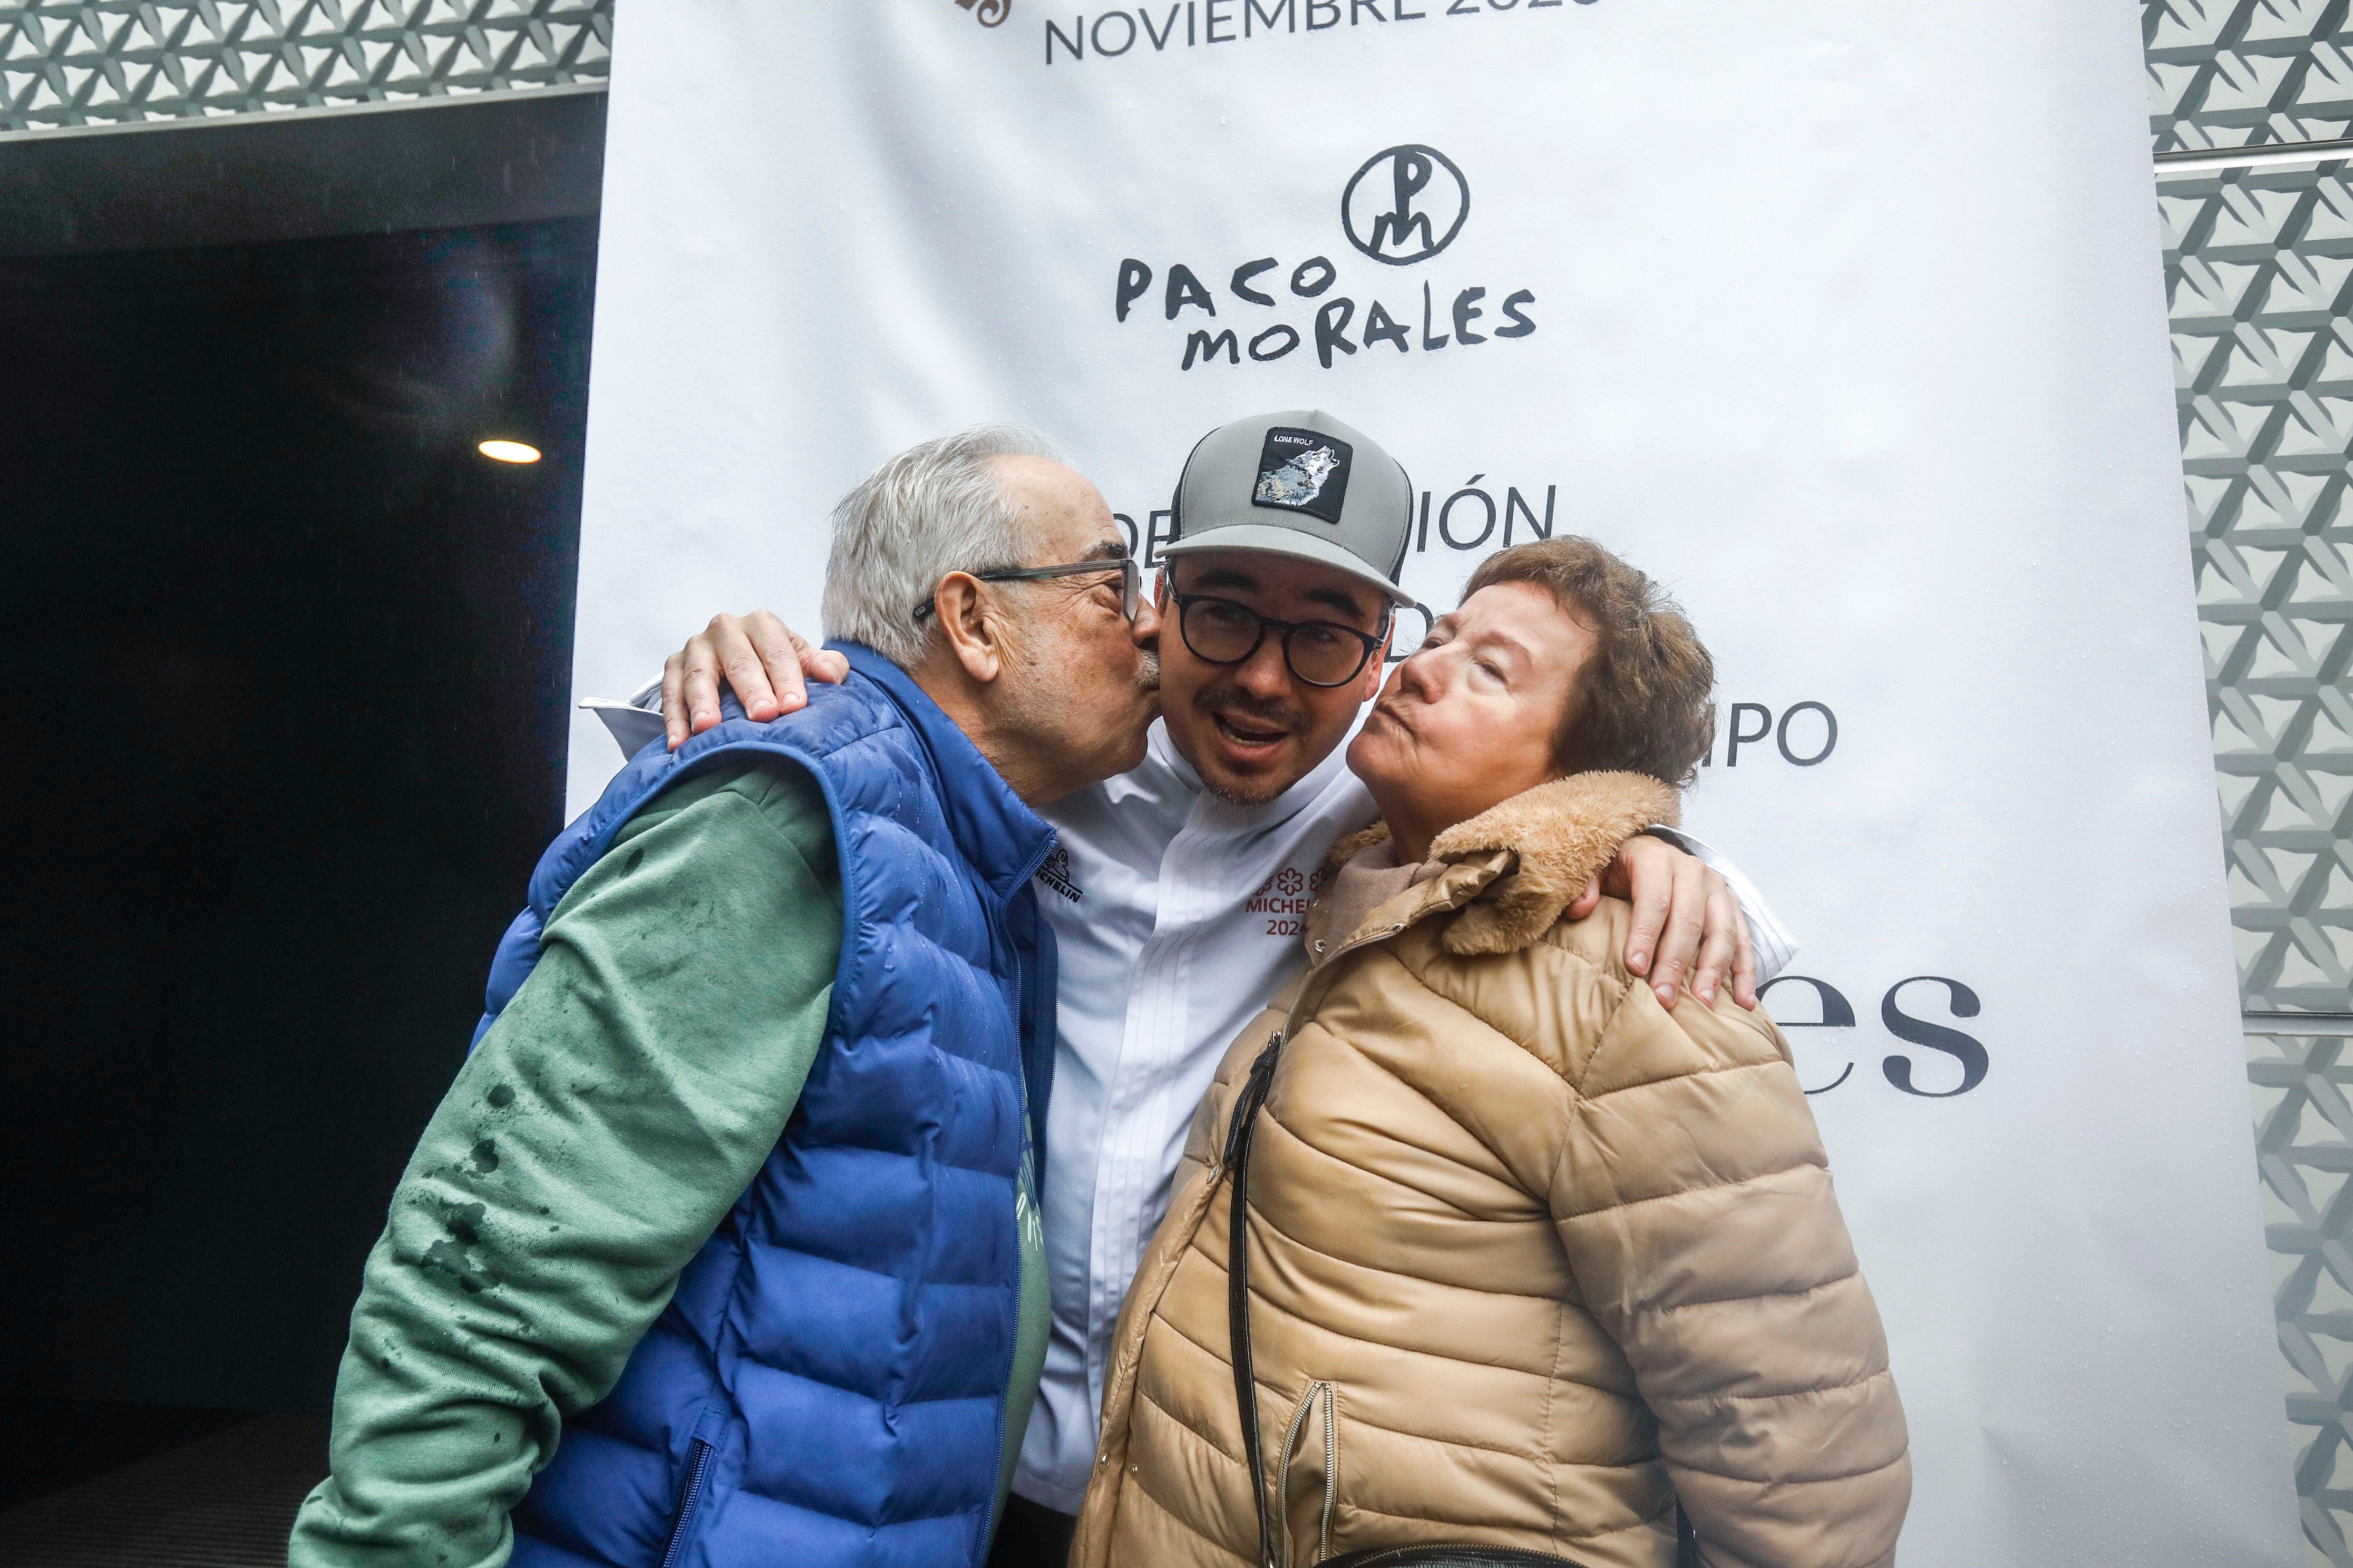
[[833, 827], [791, 764], [692, 778], [555, 907], [393, 1192], [296, 1568], [496, 1568], [774, 1150], [840, 957]]

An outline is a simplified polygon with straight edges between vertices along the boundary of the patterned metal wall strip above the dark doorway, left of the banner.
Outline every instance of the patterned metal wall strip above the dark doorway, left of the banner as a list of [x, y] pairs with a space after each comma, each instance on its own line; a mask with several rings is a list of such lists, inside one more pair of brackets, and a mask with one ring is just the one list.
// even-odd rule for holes
[[0, 134], [595, 82], [612, 0], [0, 0]]

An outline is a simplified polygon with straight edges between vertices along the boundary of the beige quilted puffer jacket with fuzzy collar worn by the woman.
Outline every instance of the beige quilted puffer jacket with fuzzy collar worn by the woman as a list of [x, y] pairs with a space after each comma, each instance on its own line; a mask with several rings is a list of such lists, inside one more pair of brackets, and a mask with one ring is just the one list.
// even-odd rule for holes
[[1249, 1293], [1289, 1566], [1489, 1542], [1671, 1568], [1678, 1493], [1713, 1568], [1894, 1561], [1904, 1410], [1788, 1048], [1729, 997], [1661, 1009], [1624, 903], [1560, 919], [1673, 806], [1548, 783], [1346, 938], [1311, 912], [1320, 957], [1226, 1053], [1120, 1314], [1073, 1568], [1257, 1556], [1217, 1161], [1285, 1018]]

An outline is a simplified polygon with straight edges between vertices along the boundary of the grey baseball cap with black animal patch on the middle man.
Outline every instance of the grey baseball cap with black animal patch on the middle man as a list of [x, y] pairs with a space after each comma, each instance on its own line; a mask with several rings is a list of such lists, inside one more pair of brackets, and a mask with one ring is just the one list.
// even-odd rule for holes
[[1398, 458], [1322, 409], [1259, 414], [1200, 437], [1176, 480], [1176, 543], [1160, 555], [1266, 550], [1337, 567], [1395, 604], [1414, 522]]

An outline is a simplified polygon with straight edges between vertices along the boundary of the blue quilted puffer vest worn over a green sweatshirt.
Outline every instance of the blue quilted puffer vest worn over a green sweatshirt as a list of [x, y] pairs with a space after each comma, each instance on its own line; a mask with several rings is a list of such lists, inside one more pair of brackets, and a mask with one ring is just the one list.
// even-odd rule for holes
[[[656, 741], [548, 846], [489, 1027], [565, 889], [664, 788], [769, 752], [826, 790], [842, 961], [776, 1152], [619, 1385], [515, 1509], [518, 1568], [967, 1568], [988, 1547], [1019, 1324], [1014, 1194], [1054, 1063], [1054, 832], [892, 663], [772, 724]], [[480, 1032], [475, 1032], [480, 1039]], [[1026, 1107], [1026, 1114], [1024, 1114]], [[1042, 1143], [1040, 1143], [1042, 1147]]]

